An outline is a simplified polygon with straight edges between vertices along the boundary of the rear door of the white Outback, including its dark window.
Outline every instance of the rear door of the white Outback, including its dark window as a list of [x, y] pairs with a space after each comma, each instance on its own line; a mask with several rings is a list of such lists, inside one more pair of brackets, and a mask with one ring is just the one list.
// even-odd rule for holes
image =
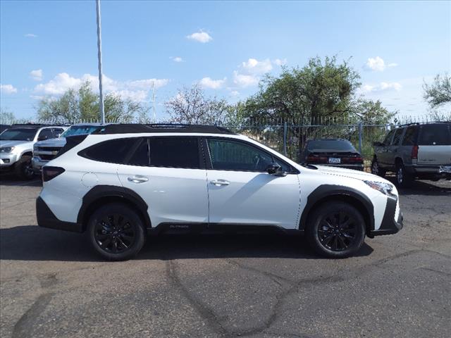
[[152, 227], [208, 223], [206, 170], [198, 137], [149, 137], [118, 166], [124, 187], [149, 206]]

